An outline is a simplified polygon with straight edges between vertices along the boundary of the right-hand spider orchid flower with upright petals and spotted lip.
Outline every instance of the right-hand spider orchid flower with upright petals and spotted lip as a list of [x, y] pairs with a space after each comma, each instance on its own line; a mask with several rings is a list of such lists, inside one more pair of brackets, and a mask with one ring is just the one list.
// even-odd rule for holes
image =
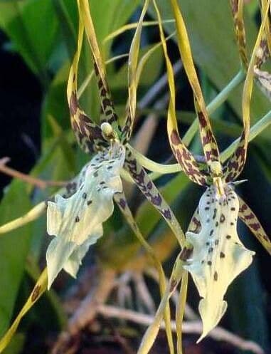
[[[193, 250], [184, 252], [183, 257], [185, 261], [184, 269], [191, 274], [201, 296], [198, 306], [203, 321], [203, 333], [201, 338], [199, 338], [201, 340], [218, 324], [225, 313], [227, 303], [224, 300], [224, 296], [228, 286], [253, 261], [254, 252], [246, 249], [238, 236], [238, 217], [245, 222], [271, 254], [271, 243], [260, 222], [258, 222], [257, 217], [255, 217], [248, 205], [233, 190], [233, 184], [235, 183], [233, 181], [240, 175], [245, 165], [250, 131], [249, 106], [253, 90], [253, 68], [264, 23], [262, 23], [255, 44], [243, 90], [243, 134], [235, 152], [222, 167], [216, 138], [211, 129], [201, 87], [193, 66], [184, 19], [176, 0], [171, 0], [171, 6], [176, 20], [181, 59], [184, 63], [188, 80], [193, 88], [201, 143], [207, 165], [206, 170], [200, 168], [179, 136], [175, 113], [174, 73], [161, 27], [161, 16], [156, 6], [170, 89], [167, 127], [171, 149], [186, 175], [193, 182], [207, 187], [191, 220], [192, 230], [186, 233], [186, 241], [192, 246]], [[265, 16], [266, 18], [267, 16]]]

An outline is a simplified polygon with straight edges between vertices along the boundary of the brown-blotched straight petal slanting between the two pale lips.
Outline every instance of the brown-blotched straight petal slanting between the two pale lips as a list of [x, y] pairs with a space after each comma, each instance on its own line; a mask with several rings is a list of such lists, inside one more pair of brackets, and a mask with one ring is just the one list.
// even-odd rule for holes
[[152, 179], [149, 178], [147, 172], [139, 165], [139, 162], [129, 150], [127, 150], [126, 153], [124, 169], [129, 172], [129, 175], [134, 179], [135, 184], [137, 184], [137, 187], [144, 196], [153, 204], [162, 217], [164, 217], [166, 223], [169, 224], [169, 227], [178, 239], [179, 244], [181, 244], [181, 246], [184, 245], [184, 232], [171, 211], [169, 204], [166, 203], [159, 190], [155, 187], [154, 182], [152, 182]]

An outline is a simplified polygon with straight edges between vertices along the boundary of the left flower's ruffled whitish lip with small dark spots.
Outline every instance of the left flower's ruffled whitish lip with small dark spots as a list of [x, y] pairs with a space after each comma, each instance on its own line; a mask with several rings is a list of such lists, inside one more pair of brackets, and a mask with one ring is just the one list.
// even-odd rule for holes
[[61, 269], [76, 276], [87, 249], [102, 236], [102, 223], [113, 212], [113, 195], [122, 191], [119, 173], [123, 164], [122, 146], [98, 153], [72, 197], [57, 195], [55, 202], [48, 202], [47, 231], [55, 236], [46, 254], [48, 288]]

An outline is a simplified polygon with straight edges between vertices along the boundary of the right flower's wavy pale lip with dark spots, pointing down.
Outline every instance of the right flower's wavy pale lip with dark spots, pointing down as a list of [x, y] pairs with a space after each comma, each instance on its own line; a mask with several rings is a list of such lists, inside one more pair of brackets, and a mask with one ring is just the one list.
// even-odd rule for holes
[[198, 206], [201, 231], [187, 232], [193, 254], [184, 269], [190, 272], [199, 295], [199, 312], [203, 321], [201, 340], [220, 321], [226, 311], [224, 295], [233, 279], [250, 266], [253, 251], [245, 249], [237, 233], [238, 196], [225, 186], [225, 195], [218, 197], [211, 186]]

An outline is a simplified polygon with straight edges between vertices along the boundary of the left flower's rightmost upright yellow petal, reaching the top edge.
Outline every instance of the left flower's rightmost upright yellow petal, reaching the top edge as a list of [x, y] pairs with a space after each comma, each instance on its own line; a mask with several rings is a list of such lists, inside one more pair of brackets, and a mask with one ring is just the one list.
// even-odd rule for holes
[[137, 62], [139, 58], [139, 48], [140, 48], [140, 40], [142, 33], [142, 26], [144, 16], [147, 12], [149, 6], [149, 0], [144, 1], [144, 6], [142, 9], [142, 13], [140, 15], [136, 31], [134, 32], [134, 37], [132, 39], [131, 47], [129, 50], [129, 60], [128, 60], [128, 105], [127, 105], [127, 113], [124, 122], [124, 126], [122, 128], [122, 141], [126, 142], [129, 140], [132, 134], [132, 127], [134, 124], [134, 118], [137, 107]]

